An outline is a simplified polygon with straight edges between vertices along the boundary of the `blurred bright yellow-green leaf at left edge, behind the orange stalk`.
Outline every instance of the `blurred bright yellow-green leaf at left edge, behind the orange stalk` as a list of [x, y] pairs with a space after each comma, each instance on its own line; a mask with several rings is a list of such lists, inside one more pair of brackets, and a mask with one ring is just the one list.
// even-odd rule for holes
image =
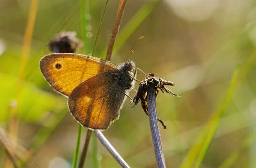
[[[15, 106], [15, 84], [17, 79], [10, 75], [0, 75], [0, 87], [4, 88], [0, 95], [0, 121], [6, 121], [12, 106]], [[38, 121], [42, 119], [45, 112], [52, 111], [58, 100], [55, 96], [39, 90], [35, 85], [26, 83], [21, 93], [19, 118], [25, 121]]]

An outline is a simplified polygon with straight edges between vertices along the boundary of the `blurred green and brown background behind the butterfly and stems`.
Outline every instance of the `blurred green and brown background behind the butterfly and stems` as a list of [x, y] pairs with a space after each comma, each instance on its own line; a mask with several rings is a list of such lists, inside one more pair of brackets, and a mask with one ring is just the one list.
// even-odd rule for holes
[[[0, 127], [7, 135], [30, 3], [0, 2]], [[85, 4], [87, 43], [76, 51], [80, 54], [91, 53], [105, 0]], [[97, 57], [105, 58], [118, 5], [109, 1]], [[78, 0], [39, 0], [18, 108], [16, 146], [32, 149], [24, 167], [72, 167], [78, 124], [38, 62], [50, 53], [47, 43], [60, 31], [76, 31], [83, 38], [80, 6]], [[133, 43], [145, 36], [130, 59], [146, 73], [175, 82], [168, 88], [181, 95], [159, 93], [157, 98], [158, 117], [167, 126], [159, 128], [168, 168], [256, 168], [255, 0], [128, 0], [119, 35], [111, 61], [124, 62]], [[137, 79], [143, 78], [139, 72]], [[132, 105], [126, 101], [120, 118], [103, 133], [131, 168], [156, 168], [149, 119], [140, 105]], [[83, 128], [81, 149], [85, 134]], [[6, 162], [3, 148], [0, 167]], [[24, 159], [22, 151], [18, 160]], [[86, 167], [94, 167], [92, 153], [90, 144]], [[97, 158], [98, 167], [120, 167], [99, 142]]]

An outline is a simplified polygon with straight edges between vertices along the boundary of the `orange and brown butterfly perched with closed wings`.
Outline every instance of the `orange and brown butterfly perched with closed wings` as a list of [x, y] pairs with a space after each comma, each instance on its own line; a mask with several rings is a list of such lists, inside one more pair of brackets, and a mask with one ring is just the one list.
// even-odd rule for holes
[[45, 80], [68, 98], [74, 118], [91, 129], [107, 129], [119, 118], [126, 96], [134, 86], [135, 63], [120, 65], [97, 57], [54, 53], [39, 62]]

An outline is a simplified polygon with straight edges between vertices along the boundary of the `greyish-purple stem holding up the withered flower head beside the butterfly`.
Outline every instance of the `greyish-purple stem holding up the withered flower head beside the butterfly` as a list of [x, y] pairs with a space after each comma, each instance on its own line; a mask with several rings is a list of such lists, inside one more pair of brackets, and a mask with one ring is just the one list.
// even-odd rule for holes
[[150, 129], [155, 149], [155, 156], [158, 164], [158, 168], [166, 168], [166, 161], [162, 149], [159, 127], [158, 127], [158, 115], [156, 107], [156, 95], [154, 87], [151, 85], [147, 91], [147, 101], [150, 118]]

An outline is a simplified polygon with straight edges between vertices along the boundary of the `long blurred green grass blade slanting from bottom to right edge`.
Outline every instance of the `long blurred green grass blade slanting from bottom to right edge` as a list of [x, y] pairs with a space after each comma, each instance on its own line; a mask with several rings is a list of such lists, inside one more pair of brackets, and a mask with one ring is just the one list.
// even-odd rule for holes
[[230, 104], [233, 95], [241, 86], [241, 84], [246, 79], [248, 73], [256, 64], [256, 50], [247, 58], [247, 60], [242, 64], [240, 68], [235, 70], [233, 73], [233, 78], [229, 86], [229, 90], [225, 101], [219, 105], [217, 110], [212, 113], [209, 121], [204, 127], [203, 131], [198, 136], [193, 147], [189, 150], [186, 158], [182, 162], [180, 168], [191, 168], [195, 163], [195, 168], [198, 168], [203, 161], [204, 155], [211, 144], [211, 140], [217, 129], [219, 119], [221, 118], [226, 107]]

